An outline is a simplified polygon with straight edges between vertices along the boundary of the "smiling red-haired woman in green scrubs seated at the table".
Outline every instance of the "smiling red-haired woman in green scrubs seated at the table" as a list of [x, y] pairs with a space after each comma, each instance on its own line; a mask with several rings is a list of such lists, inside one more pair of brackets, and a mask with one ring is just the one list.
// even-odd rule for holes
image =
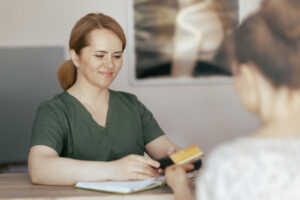
[[75, 24], [71, 60], [57, 73], [64, 92], [40, 104], [33, 124], [33, 183], [151, 178], [159, 173], [151, 158], [179, 149], [135, 95], [108, 89], [125, 46], [121, 26], [109, 16], [91, 13]]

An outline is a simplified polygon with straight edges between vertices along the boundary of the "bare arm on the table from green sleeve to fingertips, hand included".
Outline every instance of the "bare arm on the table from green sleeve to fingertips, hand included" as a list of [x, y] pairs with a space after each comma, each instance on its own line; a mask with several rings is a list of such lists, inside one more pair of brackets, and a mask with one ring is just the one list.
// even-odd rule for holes
[[44, 145], [30, 149], [28, 168], [35, 184], [73, 185], [78, 181], [141, 180], [158, 176], [159, 162], [140, 155], [127, 155], [119, 160], [84, 161], [59, 157]]

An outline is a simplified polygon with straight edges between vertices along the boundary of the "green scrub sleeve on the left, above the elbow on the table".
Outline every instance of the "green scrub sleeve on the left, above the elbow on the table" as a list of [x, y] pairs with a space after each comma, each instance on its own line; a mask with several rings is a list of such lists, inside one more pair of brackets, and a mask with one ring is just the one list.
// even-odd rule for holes
[[61, 155], [64, 138], [63, 122], [63, 113], [58, 106], [41, 104], [32, 127], [31, 147], [46, 145]]

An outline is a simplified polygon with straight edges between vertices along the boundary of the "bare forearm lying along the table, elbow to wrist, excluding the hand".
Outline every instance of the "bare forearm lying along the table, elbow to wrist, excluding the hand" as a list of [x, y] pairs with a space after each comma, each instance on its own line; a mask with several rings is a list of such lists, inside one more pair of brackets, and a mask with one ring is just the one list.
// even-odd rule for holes
[[61, 157], [35, 158], [29, 165], [35, 184], [73, 185], [78, 181], [103, 181], [113, 178], [111, 162], [81, 161]]

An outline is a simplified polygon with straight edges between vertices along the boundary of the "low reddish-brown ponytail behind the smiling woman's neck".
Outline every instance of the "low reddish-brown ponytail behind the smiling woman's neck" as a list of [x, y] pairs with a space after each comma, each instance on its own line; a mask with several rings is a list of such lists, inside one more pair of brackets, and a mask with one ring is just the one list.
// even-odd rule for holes
[[65, 61], [57, 70], [57, 78], [60, 86], [67, 90], [74, 85], [77, 78], [77, 69], [72, 60]]

